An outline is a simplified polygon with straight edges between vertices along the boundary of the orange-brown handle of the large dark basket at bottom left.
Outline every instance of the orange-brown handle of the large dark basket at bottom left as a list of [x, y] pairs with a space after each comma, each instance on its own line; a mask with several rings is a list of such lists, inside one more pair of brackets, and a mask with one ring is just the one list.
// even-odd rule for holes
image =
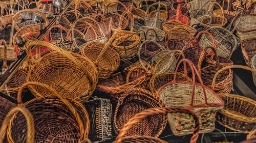
[[[35, 81], [30, 81], [30, 82], [24, 83], [18, 89], [18, 95], [17, 95], [18, 106], [23, 106], [22, 105], [22, 91], [24, 88], [28, 87], [29, 85], [37, 85], [39, 87], [42, 87], [42, 88], [45, 88], [45, 89], [51, 91], [58, 99], [60, 99], [61, 102], [63, 102], [63, 104], [65, 104], [69, 108], [69, 110], [71, 111], [72, 115], [74, 116], [74, 118], [79, 126], [80, 135], [81, 135], [79, 140], [82, 140], [84, 135], [86, 135], [87, 133], [84, 130], [82, 120], [81, 120], [78, 112], [76, 111], [75, 107], [65, 97], [61, 96], [55, 89], [53, 89], [49, 85], [40, 83], [40, 82], [35, 82]], [[86, 126], [90, 126], [89, 122], [87, 122], [86, 124], [87, 124]]]

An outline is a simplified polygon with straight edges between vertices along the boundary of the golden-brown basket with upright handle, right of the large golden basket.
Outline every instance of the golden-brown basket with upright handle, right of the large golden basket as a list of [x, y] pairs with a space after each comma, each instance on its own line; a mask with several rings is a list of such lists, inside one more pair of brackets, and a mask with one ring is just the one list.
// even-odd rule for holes
[[119, 54], [110, 47], [116, 35], [114, 34], [106, 44], [98, 41], [88, 42], [81, 50], [81, 54], [96, 65], [99, 78], [108, 78], [120, 65]]

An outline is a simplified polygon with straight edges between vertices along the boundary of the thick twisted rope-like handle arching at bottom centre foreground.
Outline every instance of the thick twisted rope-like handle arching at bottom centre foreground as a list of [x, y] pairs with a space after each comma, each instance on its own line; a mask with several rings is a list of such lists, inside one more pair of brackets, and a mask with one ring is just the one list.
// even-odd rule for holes
[[122, 129], [119, 131], [118, 136], [116, 137], [116, 140], [114, 143], [121, 143], [124, 135], [129, 131], [130, 128], [136, 123], [140, 121], [140, 119], [146, 118], [147, 116], [159, 114], [159, 113], [188, 113], [191, 115], [195, 120], [195, 128], [193, 132], [193, 136], [190, 138], [190, 143], [196, 143], [197, 138], [199, 136], [199, 120], [195, 113], [187, 110], [187, 109], [181, 109], [181, 108], [172, 108], [172, 107], [159, 107], [159, 108], [148, 108], [146, 110], [143, 110], [140, 113], [137, 113], [133, 118], [131, 118], [127, 123], [125, 123], [122, 127]]

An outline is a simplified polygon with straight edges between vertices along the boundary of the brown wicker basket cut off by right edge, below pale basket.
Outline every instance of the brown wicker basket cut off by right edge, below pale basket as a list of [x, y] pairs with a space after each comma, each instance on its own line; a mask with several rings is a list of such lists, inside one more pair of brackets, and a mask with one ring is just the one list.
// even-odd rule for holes
[[242, 53], [244, 55], [245, 63], [248, 67], [251, 67], [250, 61], [252, 57], [256, 54], [256, 38], [247, 39], [242, 42]]

